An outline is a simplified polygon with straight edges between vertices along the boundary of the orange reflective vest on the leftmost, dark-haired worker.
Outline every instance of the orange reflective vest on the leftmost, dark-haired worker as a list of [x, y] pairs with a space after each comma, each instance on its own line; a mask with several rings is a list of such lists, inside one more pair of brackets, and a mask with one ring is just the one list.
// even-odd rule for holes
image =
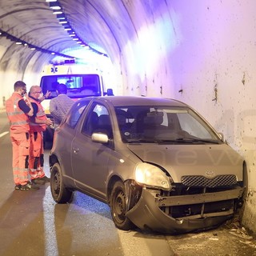
[[13, 93], [6, 100], [6, 114], [10, 121], [10, 134], [26, 133], [30, 130], [29, 117], [19, 108], [22, 95]]

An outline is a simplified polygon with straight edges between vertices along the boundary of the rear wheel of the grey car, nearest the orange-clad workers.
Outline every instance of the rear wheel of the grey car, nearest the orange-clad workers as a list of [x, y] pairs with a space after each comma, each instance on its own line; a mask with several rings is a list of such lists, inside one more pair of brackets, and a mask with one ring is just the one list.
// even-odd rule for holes
[[72, 201], [73, 191], [63, 183], [61, 166], [55, 163], [50, 173], [50, 191], [55, 202], [66, 203]]

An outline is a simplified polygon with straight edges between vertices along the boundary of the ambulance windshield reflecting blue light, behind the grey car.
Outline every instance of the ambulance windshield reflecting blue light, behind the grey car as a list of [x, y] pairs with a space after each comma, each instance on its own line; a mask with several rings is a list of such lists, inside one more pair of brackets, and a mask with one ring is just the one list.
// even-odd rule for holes
[[54, 98], [56, 86], [63, 83], [67, 87], [67, 95], [70, 98], [84, 98], [87, 96], [102, 95], [101, 83], [98, 74], [66, 74], [66, 75], [47, 75], [41, 79], [42, 93], [50, 91], [50, 97]]

